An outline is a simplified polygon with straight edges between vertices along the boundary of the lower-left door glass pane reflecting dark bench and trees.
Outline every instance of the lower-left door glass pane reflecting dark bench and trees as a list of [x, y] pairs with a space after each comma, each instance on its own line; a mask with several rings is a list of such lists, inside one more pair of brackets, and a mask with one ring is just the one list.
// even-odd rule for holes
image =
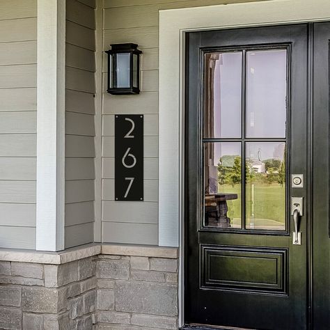
[[241, 228], [241, 143], [204, 143], [204, 226]]

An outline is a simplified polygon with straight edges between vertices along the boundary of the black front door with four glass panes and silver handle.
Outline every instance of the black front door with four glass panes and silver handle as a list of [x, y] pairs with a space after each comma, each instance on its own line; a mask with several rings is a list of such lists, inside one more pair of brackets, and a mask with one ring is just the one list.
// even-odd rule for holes
[[187, 33], [187, 324], [329, 329], [328, 31]]

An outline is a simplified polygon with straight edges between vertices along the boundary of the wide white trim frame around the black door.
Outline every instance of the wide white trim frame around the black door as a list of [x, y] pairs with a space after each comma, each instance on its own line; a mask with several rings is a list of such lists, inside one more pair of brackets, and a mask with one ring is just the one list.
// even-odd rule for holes
[[179, 327], [184, 325], [185, 33], [322, 21], [330, 21], [329, 0], [268, 0], [159, 10], [159, 246], [180, 249]]

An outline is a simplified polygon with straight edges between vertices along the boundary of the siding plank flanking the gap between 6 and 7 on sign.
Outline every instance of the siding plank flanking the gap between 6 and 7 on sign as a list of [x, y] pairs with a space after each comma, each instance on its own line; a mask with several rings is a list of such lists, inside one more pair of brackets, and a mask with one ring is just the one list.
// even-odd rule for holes
[[[143, 159], [143, 177], [145, 179], [158, 179], [158, 159]], [[115, 159], [112, 157], [102, 157], [102, 178], [115, 178]]]

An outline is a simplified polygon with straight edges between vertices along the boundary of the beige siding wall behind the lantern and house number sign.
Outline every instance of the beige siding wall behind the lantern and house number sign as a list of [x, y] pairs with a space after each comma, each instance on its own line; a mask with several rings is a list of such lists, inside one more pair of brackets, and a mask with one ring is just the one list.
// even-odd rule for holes
[[[250, 0], [251, 1], [251, 0]], [[103, 50], [112, 43], [134, 42], [142, 50], [141, 93], [106, 93], [107, 57], [103, 56], [102, 242], [158, 244], [158, 11], [246, 0], [104, 0]], [[114, 114], [143, 113], [143, 202], [114, 201]]]

